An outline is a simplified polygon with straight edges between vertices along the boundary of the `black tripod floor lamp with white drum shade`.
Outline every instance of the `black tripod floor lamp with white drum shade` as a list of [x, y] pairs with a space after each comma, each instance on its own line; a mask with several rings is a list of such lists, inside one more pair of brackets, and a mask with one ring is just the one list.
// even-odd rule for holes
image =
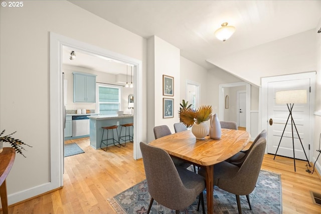
[[279, 149], [279, 146], [280, 146], [280, 143], [281, 143], [281, 140], [282, 140], [282, 137], [283, 137], [287, 122], [288, 122], [289, 118], [291, 118], [294, 171], [295, 171], [295, 154], [294, 154], [293, 125], [295, 127], [295, 131], [297, 133], [297, 136], [298, 136], [298, 138], [300, 140], [303, 152], [304, 152], [305, 157], [306, 157], [306, 161], [307, 161], [308, 165], [311, 166], [309, 161], [308, 161], [308, 159], [307, 159], [307, 156], [306, 156], [306, 153], [305, 153], [301, 138], [299, 136], [299, 133], [298, 133], [298, 131], [296, 129], [296, 125], [295, 125], [293, 117], [292, 117], [292, 109], [293, 109], [294, 104], [304, 104], [304, 103], [306, 103], [306, 90], [288, 90], [288, 91], [278, 91], [278, 92], [275, 93], [275, 104], [286, 104], [287, 109], [289, 110], [289, 116], [287, 117], [284, 129], [283, 129], [283, 132], [282, 132], [282, 135], [281, 135], [281, 139], [280, 139], [279, 145], [277, 146], [277, 149], [276, 149], [276, 152], [274, 154], [273, 160], [275, 159], [277, 150]]

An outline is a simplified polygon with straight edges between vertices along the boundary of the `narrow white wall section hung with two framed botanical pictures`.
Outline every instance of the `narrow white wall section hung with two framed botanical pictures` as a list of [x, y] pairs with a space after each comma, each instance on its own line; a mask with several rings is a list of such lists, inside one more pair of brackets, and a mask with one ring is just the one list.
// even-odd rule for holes
[[[154, 126], [167, 125], [172, 133], [175, 132], [173, 124], [177, 121], [177, 111], [180, 109], [180, 49], [156, 36], [148, 39], [148, 46], [153, 46], [148, 47], [148, 53], [149, 50], [153, 51], [153, 60], [148, 61], [148, 70], [150, 68], [150, 71], [154, 71], [148, 77], [148, 88], [153, 87], [154, 90], [153, 94], [148, 92], [147, 104], [147, 109], [154, 107], [154, 121], [148, 120], [151, 123], [148, 123], [147, 130], [148, 140], [151, 141], [154, 139]], [[163, 96], [163, 75], [174, 77], [174, 96]], [[163, 118], [163, 98], [174, 99], [173, 118]]]

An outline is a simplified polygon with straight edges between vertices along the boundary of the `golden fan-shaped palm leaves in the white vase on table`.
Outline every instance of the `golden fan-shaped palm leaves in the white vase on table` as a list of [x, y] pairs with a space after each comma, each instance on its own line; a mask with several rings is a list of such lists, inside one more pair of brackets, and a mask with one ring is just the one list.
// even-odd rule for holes
[[201, 106], [198, 110], [192, 108], [183, 108], [180, 110], [180, 120], [187, 127], [191, 127], [194, 123], [200, 124], [209, 120], [212, 116], [212, 106]]

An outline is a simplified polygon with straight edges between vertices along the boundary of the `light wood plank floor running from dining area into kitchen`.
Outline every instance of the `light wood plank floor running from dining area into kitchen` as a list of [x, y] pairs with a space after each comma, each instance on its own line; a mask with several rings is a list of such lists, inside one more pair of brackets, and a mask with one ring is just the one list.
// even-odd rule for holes
[[[145, 179], [142, 160], [132, 158], [132, 143], [105, 152], [90, 147], [88, 138], [66, 141], [71, 142], [85, 153], [65, 158], [64, 187], [11, 205], [9, 213], [115, 213], [106, 199]], [[321, 193], [318, 174], [307, 173], [300, 160], [294, 172], [293, 159], [273, 156], [264, 156], [262, 169], [281, 173], [283, 213], [321, 213], [309, 192]]]

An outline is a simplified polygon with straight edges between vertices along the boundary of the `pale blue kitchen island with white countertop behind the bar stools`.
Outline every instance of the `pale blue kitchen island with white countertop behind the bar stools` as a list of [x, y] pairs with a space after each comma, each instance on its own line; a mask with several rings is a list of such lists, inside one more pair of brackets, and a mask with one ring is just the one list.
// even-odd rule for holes
[[[101, 127], [104, 126], [113, 126], [113, 125], [118, 125], [118, 134], [120, 134], [120, 128], [121, 124], [126, 124], [126, 123], [133, 123], [134, 118], [133, 115], [92, 115], [88, 116], [90, 119], [90, 131], [89, 131], [89, 137], [90, 137], [90, 145], [94, 149], [99, 149], [100, 148], [100, 142], [101, 142], [101, 137], [102, 137], [102, 131], [103, 129]], [[107, 138], [107, 134], [104, 134], [104, 139]], [[109, 136], [110, 137], [110, 136]], [[115, 138], [118, 140], [118, 136], [116, 137], [116, 132], [115, 132]], [[111, 140], [110, 140], [111, 142]], [[108, 141], [108, 143], [110, 143]], [[113, 144], [112, 144], [113, 145]], [[104, 146], [104, 145], [102, 145]]]

